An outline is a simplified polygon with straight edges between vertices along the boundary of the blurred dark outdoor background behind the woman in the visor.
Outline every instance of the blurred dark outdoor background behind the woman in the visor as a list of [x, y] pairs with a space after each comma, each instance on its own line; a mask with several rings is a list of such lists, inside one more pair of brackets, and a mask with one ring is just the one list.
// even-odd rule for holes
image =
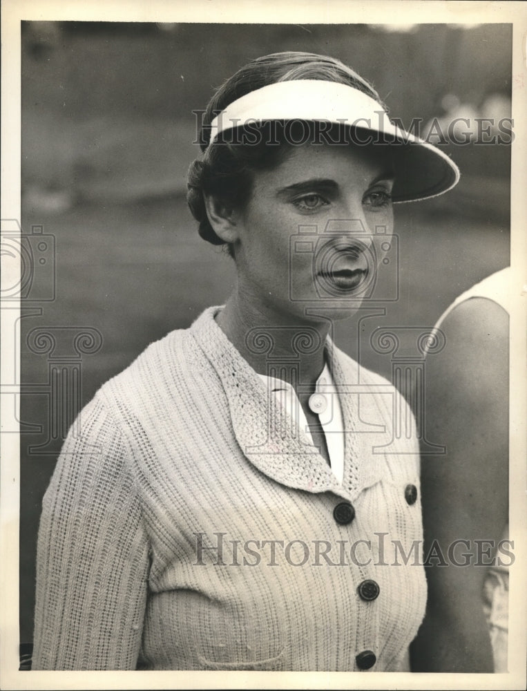
[[[21, 319], [23, 645], [41, 498], [70, 418], [148, 343], [189, 326], [233, 285], [231, 260], [200, 240], [186, 208], [186, 169], [200, 153], [192, 111], [249, 59], [307, 50], [352, 66], [407, 126], [413, 117], [473, 126], [510, 116], [511, 39], [505, 24], [22, 23], [22, 227], [35, 261]], [[461, 182], [396, 206], [398, 299], [334, 334], [389, 378], [393, 353], [372, 348], [374, 330], [396, 326], [404, 340], [509, 263], [510, 146], [473, 137], [442, 146]], [[69, 341], [83, 330], [79, 350]]]

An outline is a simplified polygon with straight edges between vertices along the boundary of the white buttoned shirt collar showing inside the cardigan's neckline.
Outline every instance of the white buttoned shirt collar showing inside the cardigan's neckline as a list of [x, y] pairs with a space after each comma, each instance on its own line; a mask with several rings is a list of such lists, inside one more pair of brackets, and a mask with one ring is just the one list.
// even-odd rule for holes
[[[283, 379], [267, 377], [267, 375], [258, 375], [258, 377], [267, 384], [267, 390], [280, 401], [280, 404], [291, 416], [291, 419], [298, 424], [298, 428], [306, 433], [313, 444], [313, 437], [309, 430], [305, 413], [291, 384], [283, 381]], [[342, 409], [341, 402], [338, 399], [338, 392], [327, 364], [324, 365], [320, 377], [316, 380], [316, 390], [309, 397], [308, 404], [312, 413], [318, 415], [318, 421], [324, 430], [333, 474], [338, 482], [342, 483], [344, 476]]]

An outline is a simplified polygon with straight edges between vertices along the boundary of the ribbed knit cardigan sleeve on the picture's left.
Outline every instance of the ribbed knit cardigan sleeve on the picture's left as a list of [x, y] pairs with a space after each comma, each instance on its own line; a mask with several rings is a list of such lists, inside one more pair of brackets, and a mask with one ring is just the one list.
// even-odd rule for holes
[[97, 397], [76, 426], [42, 504], [32, 669], [133, 670], [149, 546], [130, 454]]

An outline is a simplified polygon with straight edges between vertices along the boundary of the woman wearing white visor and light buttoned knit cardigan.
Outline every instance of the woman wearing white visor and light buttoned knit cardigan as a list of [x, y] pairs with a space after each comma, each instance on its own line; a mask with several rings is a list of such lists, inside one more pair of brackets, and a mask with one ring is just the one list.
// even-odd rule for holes
[[64, 444], [34, 668], [400, 670], [425, 578], [384, 547], [422, 536], [413, 418], [329, 334], [375, 299], [392, 202], [457, 168], [307, 53], [242, 68], [203, 132], [189, 205], [238, 283], [108, 381]]

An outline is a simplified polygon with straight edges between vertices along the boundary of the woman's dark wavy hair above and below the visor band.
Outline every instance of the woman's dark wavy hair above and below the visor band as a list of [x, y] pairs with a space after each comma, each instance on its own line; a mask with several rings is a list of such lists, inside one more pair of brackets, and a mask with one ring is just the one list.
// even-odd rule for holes
[[[229, 139], [218, 138], [212, 146], [209, 144], [210, 125], [220, 111], [238, 98], [251, 91], [292, 79], [323, 79], [327, 82], [348, 84], [374, 98], [382, 104], [374, 88], [354, 70], [340, 60], [314, 53], [273, 53], [252, 60], [236, 74], [227, 79], [211, 98], [204, 113], [200, 142], [203, 158], [195, 160], [189, 167], [187, 176], [186, 200], [192, 215], [199, 223], [200, 236], [213, 245], [224, 245], [207, 218], [204, 204], [204, 193], [217, 196], [233, 207], [243, 207], [251, 194], [253, 173], [258, 170], [272, 169], [284, 157], [287, 148], [269, 146], [269, 138], [263, 136], [257, 142], [240, 144], [229, 142]], [[269, 127], [269, 123], [264, 124]], [[275, 143], [284, 143], [283, 127], [276, 126], [272, 133]], [[295, 139], [298, 142], [298, 139]], [[228, 252], [233, 256], [233, 247], [228, 245]]]

